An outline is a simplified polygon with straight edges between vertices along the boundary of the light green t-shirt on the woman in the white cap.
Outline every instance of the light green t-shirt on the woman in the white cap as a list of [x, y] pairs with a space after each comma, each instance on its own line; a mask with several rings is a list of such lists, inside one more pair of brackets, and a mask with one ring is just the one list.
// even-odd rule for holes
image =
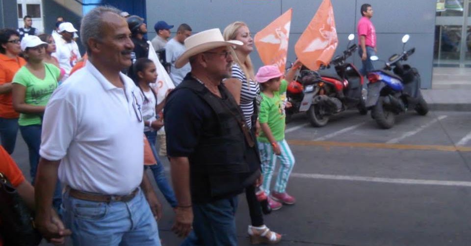
[[[26, 66], [18, 70], [13, 78], [13, 83], [26, 87], [25, 103], [34, 106], [46, 106], [54, 89], [57, 88], [57, 80], [60, 76], [59, 68], [52, 64], [44, 64], [46, 76], [44, 79], [38, 79], [32, 74]], [[18, 125], [40, 125], [41, 114], [20, 113]]]

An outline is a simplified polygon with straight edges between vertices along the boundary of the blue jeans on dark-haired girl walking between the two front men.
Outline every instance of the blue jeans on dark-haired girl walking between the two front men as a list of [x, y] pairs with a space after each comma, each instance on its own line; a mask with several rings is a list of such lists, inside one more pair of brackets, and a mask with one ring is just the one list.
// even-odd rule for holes
[[177, 206], [177, 198], [175, 197], [175, 193], [173, 192], [172, 186], [168, 183], [167, 178], [165, 177], [165, 169], [163, 163], [158, 158], [157, 150], [156, 150], [156, 138], [157, 132], [156, 131], [147, 131], [144, 132], [149, 141], [149, 144], [152, 149], [152, 153], [154, 153], [154, 157], [156, 157], [157, 164], [150, 165], [149, 168], [151, 169], [152, 173], [154, 174], [154, 179], [156, 179], [157, 187], [162, 192], [165, 200], [170, 204], [172, 207]]

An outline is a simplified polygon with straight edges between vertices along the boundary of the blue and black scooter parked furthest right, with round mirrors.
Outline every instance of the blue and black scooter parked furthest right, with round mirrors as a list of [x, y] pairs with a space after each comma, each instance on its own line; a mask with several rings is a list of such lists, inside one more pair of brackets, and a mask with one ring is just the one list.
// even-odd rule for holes
[[[415, 52], [415, 48], [405, 50], [408, 34], [402, 37], [402, 53], [392, 55], [383, 69], [367, 74], [368, 98], [366, 108], [371, 110], [371, 117], [384, 129], [394, 125], [395, 115], [414, 109], [420, 115], [428, 112], [427, 102], [420, 92], [420, 74], [418, 70], [402, 61]], [[370, 58], [378, 61], [377, 56]], [[392, 70], [392, 72], [391, 72]]]

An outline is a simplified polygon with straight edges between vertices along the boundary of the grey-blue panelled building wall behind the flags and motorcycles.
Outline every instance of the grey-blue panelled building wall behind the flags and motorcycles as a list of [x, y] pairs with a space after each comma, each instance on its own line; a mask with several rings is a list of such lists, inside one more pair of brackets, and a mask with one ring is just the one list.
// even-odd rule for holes
[[[356, 33], [360, 19], [360, 6], [364, 0], [331, 0], [334, 7], [339, 46], [336, 54], [345, 48], [346, 36]], [[151, 26], [164, 20], [178, 26], [188, 23], [194, 32], [218, 27], [221, 31], [235, 21], [246, 22], [252, 35], [268, 23], [293, 8], [288, 61], [294, 61], [294, 45], [314, 16], [322, 0], [158, 0], [147, 2], [149, 37], [155, 36]], [[408, 45], [416, 47], [416, 53], [408, 61], [417, 67], [422, 76], [422, 88], [431, 88], [433, 43], [435, 26], [434, 0], [368, 0], [374, 10], [372, 22], [378, 37], [378, 55], [389, 57], [402, 49], [402, 35], [411, 34]], [[172, 30], [176, 31], [176, 28]], [[358, 42], [356, 37], [355, 42]], [[262, 66], [256, 51], [251, 55], [256, 68]], [[355, 65], [361, 67], [357, 54], [353, 55]]]

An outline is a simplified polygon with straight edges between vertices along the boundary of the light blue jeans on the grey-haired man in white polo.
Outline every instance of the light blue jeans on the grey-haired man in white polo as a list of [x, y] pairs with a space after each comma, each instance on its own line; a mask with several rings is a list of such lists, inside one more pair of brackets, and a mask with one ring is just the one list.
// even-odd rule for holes
[[84, 201], [64, 193], [63, 220], [74, 246], [160, 246], [156, 219], [142, 191], [128, 202]]

